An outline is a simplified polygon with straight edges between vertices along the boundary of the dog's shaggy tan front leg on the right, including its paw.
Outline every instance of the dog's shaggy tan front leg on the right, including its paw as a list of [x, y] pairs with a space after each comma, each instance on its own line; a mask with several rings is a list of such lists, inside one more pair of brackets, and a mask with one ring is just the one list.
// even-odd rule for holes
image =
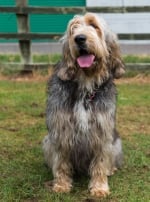
[[105, 197], [109, 194], [108, 179], [101, 158], [94, 158], [90, 165], [89, 190], [92, 196]]

